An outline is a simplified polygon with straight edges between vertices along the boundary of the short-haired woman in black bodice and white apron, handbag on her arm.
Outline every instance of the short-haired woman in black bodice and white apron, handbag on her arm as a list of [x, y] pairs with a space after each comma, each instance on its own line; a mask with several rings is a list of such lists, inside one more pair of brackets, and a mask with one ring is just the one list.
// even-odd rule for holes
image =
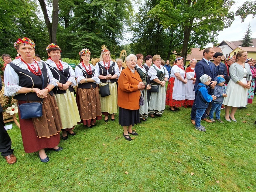
[[[161, 65], [160, 55], [154, 55], [152, 58], [153, 65], [149, 68], [151, 93], [149, 100], [149, 114], [154, 118], [154, 114], [161, 116], [165, 109], [165, 83], [169, 78], [167, 69]], [[158, 92], [153, 92], [152, 88], [157, 88]], [[154, 89], [156, 90], [156, 89]]]

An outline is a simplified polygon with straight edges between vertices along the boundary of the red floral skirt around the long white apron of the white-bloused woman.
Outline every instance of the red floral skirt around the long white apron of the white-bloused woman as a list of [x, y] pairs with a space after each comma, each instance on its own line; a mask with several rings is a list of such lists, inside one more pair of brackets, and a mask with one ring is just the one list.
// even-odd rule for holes
[[184, 106], [185, 100], [175, 100], [173, 99], [173, 87], [174, 87], [174, 77], [171, 77], [168, 81], [165, 104], [170, 107], [181, 107]]

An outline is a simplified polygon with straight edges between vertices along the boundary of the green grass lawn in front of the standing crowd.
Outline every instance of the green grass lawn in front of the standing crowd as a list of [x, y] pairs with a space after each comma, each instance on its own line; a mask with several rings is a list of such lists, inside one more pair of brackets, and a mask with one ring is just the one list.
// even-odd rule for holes
[[[122, 137], [116, 121], [75, 127], [61, 140], [64, 150], [24, 152], [17, 126], [8, 130], [17, 163], [0, 158], [0, 191], [256, 191], [256, 108], [238, 109], [235, 122], [206, 123], [195, 130], [190, 108], [134, 126], [139, 136]], [[193, 174], [194, 173], [194, 174]]]

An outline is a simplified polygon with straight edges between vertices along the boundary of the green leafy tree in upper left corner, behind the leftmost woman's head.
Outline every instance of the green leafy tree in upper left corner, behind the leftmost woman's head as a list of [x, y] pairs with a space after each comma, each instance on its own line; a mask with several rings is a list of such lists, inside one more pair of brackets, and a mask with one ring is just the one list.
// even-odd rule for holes
[[17, 54], [14, 42], [28, 37], [35, 42], [35, 51], [43, 54], [48, 34], [37, 16], [39, 9], [35, 0], [0, 0], [0, 4], [0, 53], [14, 58]]

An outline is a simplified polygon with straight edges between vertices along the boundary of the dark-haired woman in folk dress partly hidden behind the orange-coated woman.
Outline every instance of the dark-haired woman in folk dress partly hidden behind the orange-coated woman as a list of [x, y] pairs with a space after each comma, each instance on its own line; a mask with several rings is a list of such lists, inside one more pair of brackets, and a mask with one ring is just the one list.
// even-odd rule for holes
[[137, 54], [137, 62], [136, 62], [136, 71], [139, 73], [140, 78], [142, 80], [142, 82], [145, 85], [144, 90], [141, 90], [140, 93], [143, 94], [144, 97], [144, 105], [140, 106], [140, 119], [142, 121], [147, 121], [147, 114], [148, 114], [148, 110], [149, 110], [149, 104], [147, 101], [147, 90], [150, 90], [151, 85], [149, 84], [149, 76], [147, 75], [147, 71], [144, 68], [143, 64], [143, 55], [142, 54]]

